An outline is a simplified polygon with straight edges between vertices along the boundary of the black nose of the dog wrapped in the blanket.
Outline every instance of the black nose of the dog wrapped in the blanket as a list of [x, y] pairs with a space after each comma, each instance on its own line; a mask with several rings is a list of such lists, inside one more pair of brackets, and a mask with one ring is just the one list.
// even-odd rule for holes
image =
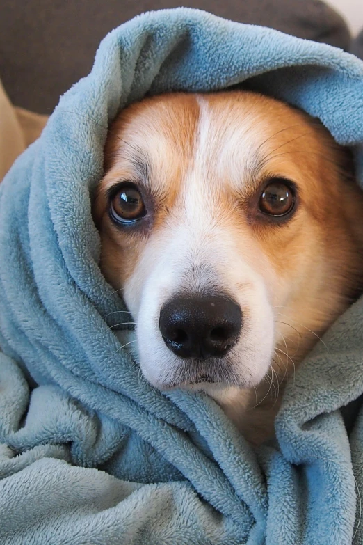
[[161, 308], [159, 329], [181, 358], [222, 358], [241, 331], [241, 308], [227, 297], [175, 297]]

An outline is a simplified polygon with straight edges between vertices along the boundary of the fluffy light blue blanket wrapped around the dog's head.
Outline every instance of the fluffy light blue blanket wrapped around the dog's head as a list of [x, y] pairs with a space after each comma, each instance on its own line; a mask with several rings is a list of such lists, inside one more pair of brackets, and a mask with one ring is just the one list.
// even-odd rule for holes
[[362, 543], [359, 402], [349, 427], [342, 416], [363, 393], [362, 300], [296, 372], [277, 441], [257, 450], [207, 395], [147, 384], [129, 326], [111, 329], [129, 320], [91, 216], [106, 127], [146, 93], [243, 81], [320, 118], [363, 183], [361, 61], [180, 8], [111, 32], [1, 184], [1, 544]]

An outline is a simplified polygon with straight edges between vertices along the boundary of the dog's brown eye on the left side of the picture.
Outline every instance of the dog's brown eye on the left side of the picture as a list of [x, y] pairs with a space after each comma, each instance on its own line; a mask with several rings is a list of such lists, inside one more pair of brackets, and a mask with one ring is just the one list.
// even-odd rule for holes
[[136, 185], [124, 183], [111, 196], [111, 218], [118, 223], [128, 223], [146, 214], [145, 205]]

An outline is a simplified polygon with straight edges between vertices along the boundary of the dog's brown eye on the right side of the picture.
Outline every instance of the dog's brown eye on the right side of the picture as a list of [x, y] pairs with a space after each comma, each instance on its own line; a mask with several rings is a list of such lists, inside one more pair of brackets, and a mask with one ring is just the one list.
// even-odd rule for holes
[[262, 191], [259, 210], [270, 216], [285, 216], [295, 205], [293, 189], [284, 180], [273, 180]]

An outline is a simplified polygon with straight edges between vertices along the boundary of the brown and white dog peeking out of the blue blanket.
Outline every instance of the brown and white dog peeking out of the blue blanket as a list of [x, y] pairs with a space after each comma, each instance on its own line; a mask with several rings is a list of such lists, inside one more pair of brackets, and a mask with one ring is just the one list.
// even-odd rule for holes
[[350, 162], [317, 120], [256, 93], [122, 111], [94, 217], [152, 385], [204, 390], [254, 443], [273, 434], [287, 377], [362, 286]]

